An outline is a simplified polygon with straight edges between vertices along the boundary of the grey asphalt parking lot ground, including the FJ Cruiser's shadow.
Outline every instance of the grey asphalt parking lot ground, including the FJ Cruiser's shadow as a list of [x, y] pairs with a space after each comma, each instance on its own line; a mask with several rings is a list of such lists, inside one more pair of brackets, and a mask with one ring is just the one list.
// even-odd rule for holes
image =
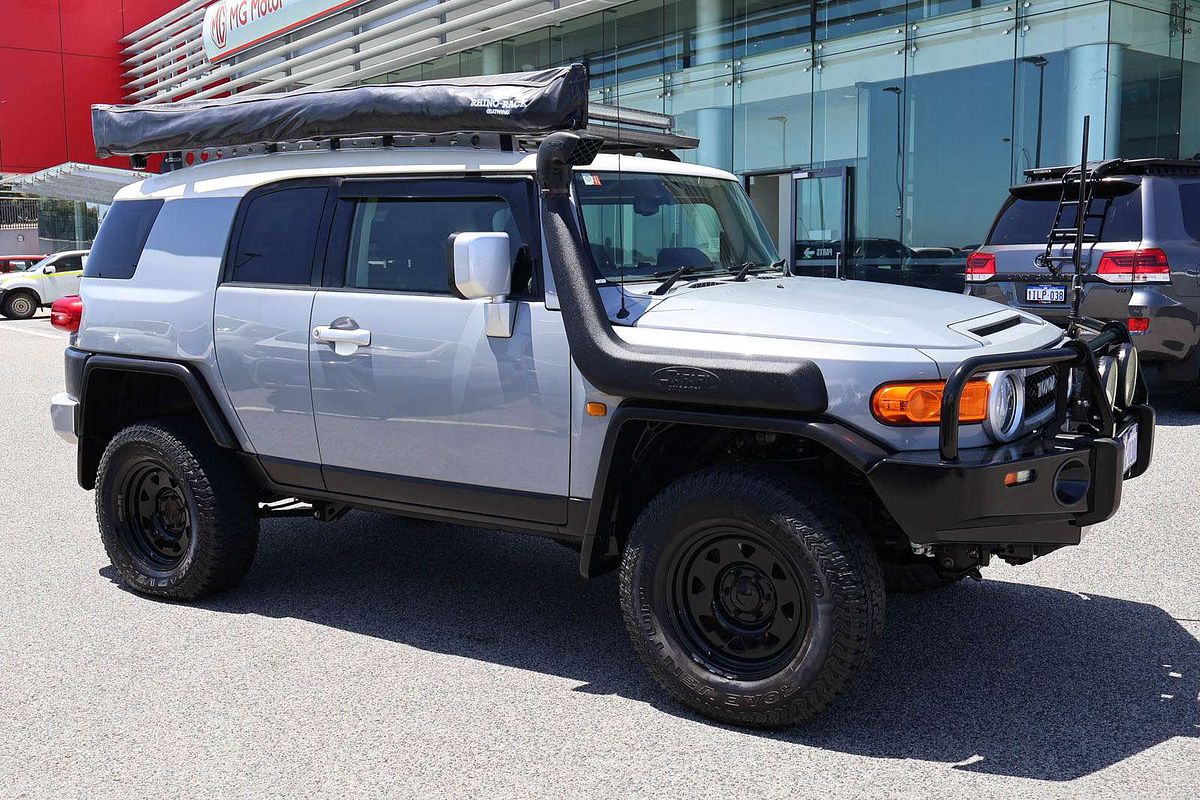
[[889, 597], [827, 716], [752, 732], [667, 700], [613, 578], [548, 541], [270, 521], [234, 591], [125, 591], [49, 427], [65, 338], [0, 321], [0, 798], [1200, 796], [1200, 414], [1171, 397], [1081, 547]]

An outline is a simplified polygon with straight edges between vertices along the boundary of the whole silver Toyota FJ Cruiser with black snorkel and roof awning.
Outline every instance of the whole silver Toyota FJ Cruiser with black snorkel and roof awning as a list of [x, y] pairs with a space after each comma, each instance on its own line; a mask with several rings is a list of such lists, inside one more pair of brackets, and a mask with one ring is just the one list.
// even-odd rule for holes
[[676, 698], [778, 726], [859, 673], [886, 584], [1116, 512], [1154, 434], [1122, 326], [788, 276], [733, 175], [586, 80], [95, 110], [102, 152], [199, 151], [118, 196], [52, 401], [132, 589], [233, 585], [264, 516], [548, 536], [619, 571]]

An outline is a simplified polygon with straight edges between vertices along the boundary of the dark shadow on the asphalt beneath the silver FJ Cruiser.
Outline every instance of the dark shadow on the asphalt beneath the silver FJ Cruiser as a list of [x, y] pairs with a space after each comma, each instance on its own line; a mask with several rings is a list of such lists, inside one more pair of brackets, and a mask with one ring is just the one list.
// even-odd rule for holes
[[[202, 608], [560, 675], [700, 718], [632, 655], [614, 579], [582, 582], [553, 542], [362, 512], [263, 528], [246, 581]], [[846, 697], [805, 726], [745, 734], [1069, 781], [1200, 736], [1198, 693], [1200, 642], [1160, 608], [985, 581], [890, 596], [881, 648]]]

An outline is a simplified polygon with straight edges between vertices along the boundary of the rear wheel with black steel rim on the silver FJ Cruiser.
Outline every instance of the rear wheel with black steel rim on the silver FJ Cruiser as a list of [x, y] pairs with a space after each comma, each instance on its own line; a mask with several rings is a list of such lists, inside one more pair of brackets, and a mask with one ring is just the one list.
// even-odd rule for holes
[[96, 518], [131, 589], [198, 600], [236, 584], [258, 548], [251, 483], [204, 423], [162, 417], [120, 431], [100, 461]]

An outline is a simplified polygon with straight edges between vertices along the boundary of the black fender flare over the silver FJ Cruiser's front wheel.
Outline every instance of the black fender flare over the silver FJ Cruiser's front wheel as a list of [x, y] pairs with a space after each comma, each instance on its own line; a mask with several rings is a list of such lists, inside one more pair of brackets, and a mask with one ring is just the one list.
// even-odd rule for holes
[[676, 422], [726, 431], [794, 435], [827, 447], [864, 475], [882, 458], [894, 452], [866, 434], [824, 415], [796, 417], [744, 409], [686, 409], [653, 403], [622, 403], [610, 419], [600, 459], [596, 463], [595, 485], [588, 504], [588, 519], [580, 548], [580, 575], [584, 578], [594, 578], [602, 572], [608, 542], [607, 533], [602, 533], [601, 528], [604, 519], [611, 515], [612, 503], [616, 500], [616, 489], [612, 486], [616, 481], [610, 482], [608, 476], [613, 471], [614, 459], [619, 462], [624, 455], [618, 452], [620, 432], [630, 422]]

